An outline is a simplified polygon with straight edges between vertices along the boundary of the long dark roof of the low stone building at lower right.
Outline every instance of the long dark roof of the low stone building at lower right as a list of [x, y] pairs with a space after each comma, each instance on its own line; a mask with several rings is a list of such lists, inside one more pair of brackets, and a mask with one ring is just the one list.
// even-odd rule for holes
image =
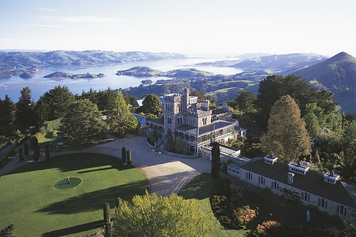
[[356, 187], [337, 181], [336, 184], [324, 182], [323, 176], [307, 172], [305, 175], [294, 173], [293, 184], [287, 183], [288, 165], [275, 162], [265, 163], [264, 158], [253, 158], [240, 166], [244, 169], [280, 183], [295, 187], [313, 195], [338, 202], [356, 209]]

